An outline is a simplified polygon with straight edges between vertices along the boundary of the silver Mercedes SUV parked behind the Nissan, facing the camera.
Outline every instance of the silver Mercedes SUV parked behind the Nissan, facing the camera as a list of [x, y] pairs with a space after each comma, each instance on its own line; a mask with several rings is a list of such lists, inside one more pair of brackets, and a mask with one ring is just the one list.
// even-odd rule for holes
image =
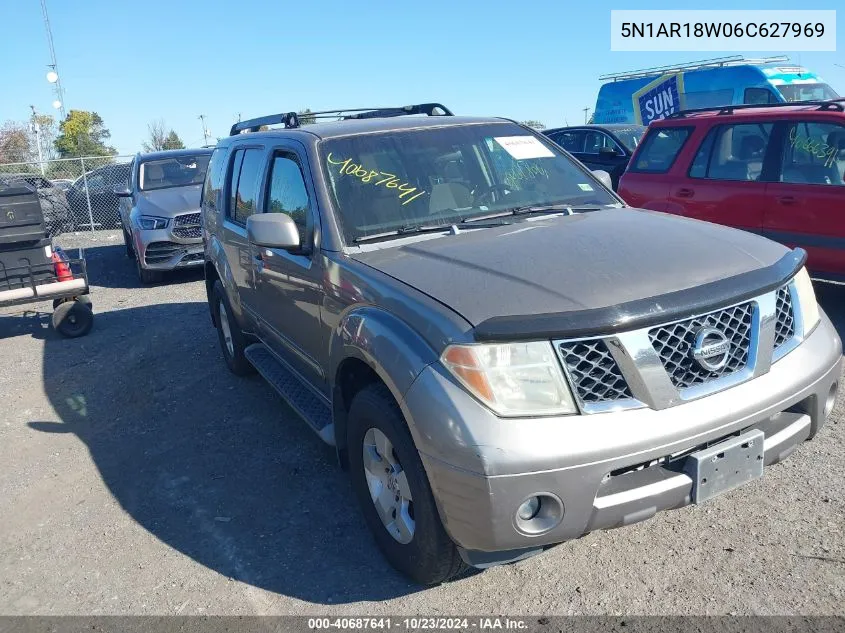
[[141, 283], [202, 266], [199, 201], [210, 157], [210, 149], [138, 154], [128, 185], [115, 187], [126, 255], [135, 260]]

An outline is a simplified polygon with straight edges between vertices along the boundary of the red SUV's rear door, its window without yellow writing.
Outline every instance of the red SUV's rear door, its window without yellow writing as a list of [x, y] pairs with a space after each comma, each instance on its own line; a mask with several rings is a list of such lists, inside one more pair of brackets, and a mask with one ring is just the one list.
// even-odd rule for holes
[[671, 184], [671, 206], [698, 220], [760, 232], [772, 164], [772, 129], [773, 124], [765, 121], [711, 128], [689, 169]]

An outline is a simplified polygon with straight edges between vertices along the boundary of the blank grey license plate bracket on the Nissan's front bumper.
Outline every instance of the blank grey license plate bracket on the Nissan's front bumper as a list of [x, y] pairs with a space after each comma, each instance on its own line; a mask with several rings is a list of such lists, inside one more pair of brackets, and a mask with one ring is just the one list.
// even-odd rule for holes
[[684, 472], [693, 482], [692, 502], [701, 503], [763, 476], [765, 435], [747, 431], [691, 453]]

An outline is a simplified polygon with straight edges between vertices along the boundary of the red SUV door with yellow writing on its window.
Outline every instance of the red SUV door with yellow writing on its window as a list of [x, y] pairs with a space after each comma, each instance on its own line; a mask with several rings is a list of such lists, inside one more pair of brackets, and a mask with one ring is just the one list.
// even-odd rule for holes
[[805, 249], [815, 275], [845, 280], [845, 125], [807, 118], [778, 132], [764, 235]]

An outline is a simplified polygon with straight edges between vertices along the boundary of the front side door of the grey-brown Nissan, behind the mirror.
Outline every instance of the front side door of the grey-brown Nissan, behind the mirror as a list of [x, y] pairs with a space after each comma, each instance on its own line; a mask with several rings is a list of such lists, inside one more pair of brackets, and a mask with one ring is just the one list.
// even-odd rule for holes
[[302, 248], [253, 247], [254, 306], [260, 335], [278, 356], [328, 395], [323, 371], [328, 348], [320, 318], [323, 262], [313, 248], [313, 186], [305, 176], [307, 163], [298, 146], [277, 146], [268, 159], [259, 212], [290, 215], [299, 229]]

